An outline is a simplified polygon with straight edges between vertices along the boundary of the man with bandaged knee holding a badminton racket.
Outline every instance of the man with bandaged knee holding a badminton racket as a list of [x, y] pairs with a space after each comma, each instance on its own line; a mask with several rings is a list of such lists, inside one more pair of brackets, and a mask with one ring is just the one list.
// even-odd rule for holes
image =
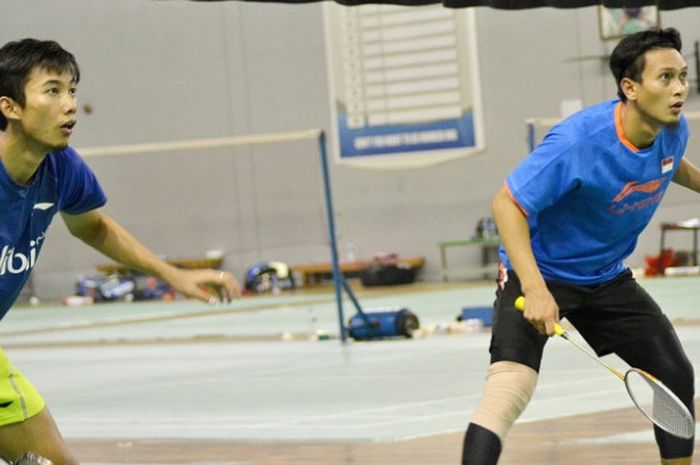
[[[467, 428], [463, 465], [495, 465], [528, 404], [548, 337], [566, 317], [598, 356], [616, 353], [682, 401], [694, 427], [693, 367], [623, 260], [671, 181], [700, 192], [683, 158], [688, 95], [673, 28], [627, 36], [610, 68], [619, 99], [584, 109], [546, 135], [493, 201], [503, 241], [491, 365]], [[524, 313], [515, 308], [525, 297]], [[594, 354], [592, 354], [595, 356]], [[694, 428], [689, 435], [692, 435]], [[693, 438], [655, 426], [661, 463], [691, 463]]]

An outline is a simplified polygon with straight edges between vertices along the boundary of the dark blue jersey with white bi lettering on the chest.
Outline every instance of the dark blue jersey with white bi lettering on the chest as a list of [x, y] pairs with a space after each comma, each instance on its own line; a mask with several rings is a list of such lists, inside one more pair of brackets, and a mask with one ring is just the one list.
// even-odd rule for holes
[[56, 212], [84, 213], [106, 201], [95, 175], [71, 148], [49, 153], [26, 186], [14, 182], [0, 162], [0, 318], [27, 281]]

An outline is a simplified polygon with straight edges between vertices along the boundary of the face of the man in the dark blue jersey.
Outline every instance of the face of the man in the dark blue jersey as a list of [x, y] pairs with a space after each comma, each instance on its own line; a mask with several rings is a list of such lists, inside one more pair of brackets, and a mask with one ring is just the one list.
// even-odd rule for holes
[[24, 87], [19, 122], [24, 135], [42, 148], [65, 148], [76, 122], [75, 81], [69, 73], [35, 68]]

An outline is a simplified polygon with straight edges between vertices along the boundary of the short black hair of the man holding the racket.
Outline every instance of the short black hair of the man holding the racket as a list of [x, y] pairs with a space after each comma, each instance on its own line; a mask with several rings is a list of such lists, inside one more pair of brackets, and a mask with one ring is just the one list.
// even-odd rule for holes
[[610, 55], [610, 70], [615, 76], [617, 95], [623, 102], [627, 96], [622, 92], [620, 82], [624, 78], [642, 82], [644, 71], [644, 54], [656, 48], [673, 48], [681, 51], [683, 43], [681, 34], [675, 28], [652, 28], [628, 35], [617, 44]]

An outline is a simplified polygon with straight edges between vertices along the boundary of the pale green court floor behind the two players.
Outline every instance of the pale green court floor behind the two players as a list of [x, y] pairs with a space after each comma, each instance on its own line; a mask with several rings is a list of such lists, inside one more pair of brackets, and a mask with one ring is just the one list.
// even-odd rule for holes
[[[700, 361], [700, 279], [642, 281]], [[364, 306], [405, 306], [424, 327], [494, 286], [361, 292]], [[349, 302], [346, 317], [354, 313]], [[481, 395], [488, 329], [341, 344], [332, 293], [17, 308], [0, 340], [35, 383], [67, 438], [211, 438], [391, 442], [462, 431]], [[283, 341], [285, 332], [292, 341]], [[611, 357], [613, 364], [624, 364]], [[520, 421], [628, 407], [615, 377], [562, 340], [548, 345], [539, 388]], [[597, 439], [605, 442], [606, 438]], [[619, 437], [610, 438], [619, 441]], [[651, 433], [623, 440], [653, 441]]]

